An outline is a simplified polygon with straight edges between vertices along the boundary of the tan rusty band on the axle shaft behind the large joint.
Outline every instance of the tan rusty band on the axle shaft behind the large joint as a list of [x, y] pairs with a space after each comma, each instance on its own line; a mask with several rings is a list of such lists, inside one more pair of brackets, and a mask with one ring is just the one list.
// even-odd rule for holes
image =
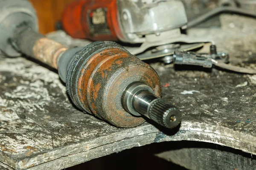
[[56, 69], [58, 69], [58, 57], [66, 50], [63, 45], [48, 38], [37, 40], [33, 47], [35, 59]]

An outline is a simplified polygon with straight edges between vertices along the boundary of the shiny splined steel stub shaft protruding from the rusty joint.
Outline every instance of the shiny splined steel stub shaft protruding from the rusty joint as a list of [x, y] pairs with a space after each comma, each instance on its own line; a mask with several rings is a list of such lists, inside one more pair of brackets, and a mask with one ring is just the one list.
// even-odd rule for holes
[[180, 111], [174, 105], [154, 95], [154, 91], [142, 82], [135, 82], [124, 92], [124, 108], [135, 116], [140, 114], [158, 124], [174, 128], [180, 123]]

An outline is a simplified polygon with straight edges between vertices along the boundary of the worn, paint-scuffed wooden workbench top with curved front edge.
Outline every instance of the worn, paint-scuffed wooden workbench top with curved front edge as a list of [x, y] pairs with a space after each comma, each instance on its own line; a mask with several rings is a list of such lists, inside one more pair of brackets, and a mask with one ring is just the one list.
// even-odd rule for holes
[[[256, 57], [256, 21], [223, 15], [221, 22], [221, 29], [189, 34], [215, 39], [221, 51], [230, 52], [233, 64], [255, 68], [250, 63]], [[2, 57], [0, 165], [64, 169], [131, 147], [180, 140], [256, 154], [256, 76], [152, 66], [162, 80], [163, 98], [182, 112], [179, 129], [167, 132], [148, 122], [130, 129], [113, 127], [76, 109], [56, 72], [24, 58]]]

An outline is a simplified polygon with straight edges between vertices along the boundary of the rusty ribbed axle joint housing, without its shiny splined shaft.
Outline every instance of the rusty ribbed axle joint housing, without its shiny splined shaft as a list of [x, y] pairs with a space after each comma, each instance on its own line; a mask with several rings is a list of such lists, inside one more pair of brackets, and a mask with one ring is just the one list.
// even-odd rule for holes
[[160, 96], [159, 77], [149, 65], [114, 42], [95, 42], [76, 55], [67, 74], [67, 90], [81, 110], [118, 127], [144, 122], [123, 109], [122, 94], [131, 83], [145, 82]]

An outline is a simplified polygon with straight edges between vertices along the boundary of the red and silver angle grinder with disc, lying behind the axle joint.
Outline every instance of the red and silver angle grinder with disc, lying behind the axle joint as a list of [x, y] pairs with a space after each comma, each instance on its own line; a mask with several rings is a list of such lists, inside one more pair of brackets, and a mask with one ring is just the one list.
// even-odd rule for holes
[[184, 34], [187, 23], [180, 0], [76, 0], [62, 16], [62, 27], [71, 37], [125, 42], [141, 60], [212, 42]]

